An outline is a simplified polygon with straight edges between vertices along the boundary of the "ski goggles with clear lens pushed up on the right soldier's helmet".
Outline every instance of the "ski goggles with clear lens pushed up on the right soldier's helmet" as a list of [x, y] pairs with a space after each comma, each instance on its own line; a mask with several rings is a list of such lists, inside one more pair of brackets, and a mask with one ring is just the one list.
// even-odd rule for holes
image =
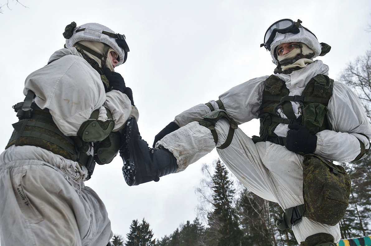
[[270, 45], [275, 39], [276, 33], [293, 33], [293, 34], [299, 33], [300, 32], [299, 27], [302, 27], [301, 23], [302, 21], [299, 19], [296, 22], [290, 19], [282, 19], [276, 21], [266, 31], [264, 36], [264, 43], [260, 44], [260, 47], [264, 46], [267, 50], [270, 51]]

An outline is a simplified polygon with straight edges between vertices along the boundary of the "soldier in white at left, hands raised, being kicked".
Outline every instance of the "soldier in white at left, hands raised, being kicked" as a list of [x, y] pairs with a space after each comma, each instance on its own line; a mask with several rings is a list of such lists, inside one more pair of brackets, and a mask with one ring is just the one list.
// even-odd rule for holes
[[64, 49], [25, 81], [19, 121], [0, 155], [2, 246], [105, 246], [104, 203], [84, 181], [118, 153], [132, 92], [114, 72], [127, 58], [125, 36], [98, 23], [69, 24]]

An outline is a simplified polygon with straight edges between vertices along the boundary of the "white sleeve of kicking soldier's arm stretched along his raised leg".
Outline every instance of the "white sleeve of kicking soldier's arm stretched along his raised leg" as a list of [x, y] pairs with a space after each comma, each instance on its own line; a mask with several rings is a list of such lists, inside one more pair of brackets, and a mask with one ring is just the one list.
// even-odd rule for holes
[[[258, 117], [260, 104], [262, 103], [263, 82], [267, 77], [251, 79], [219, 96], [226, 111], [232, 115], [237, 123], [242, 124]], [[219, 109], [216, 101], [211, 100], [209, 103], [214, 109]], [[175, 116], [174, 122], [182, 127], [190, 122], [201, 120], [202, 116], [207, 113], [210, 113], [209, 107], [205, 104], [198, 104]]]

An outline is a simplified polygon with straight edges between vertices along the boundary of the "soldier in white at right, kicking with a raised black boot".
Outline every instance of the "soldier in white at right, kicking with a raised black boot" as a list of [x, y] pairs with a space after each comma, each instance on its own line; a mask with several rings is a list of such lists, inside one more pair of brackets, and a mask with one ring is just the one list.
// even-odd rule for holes
[[[319, 43], [300, 20], [273, 23], [263, 46], [276, 65], [273, 75], [248, 80], [219, 100], [175, 116], [157, 134], [153, 149], [129, 120], [121, 149], [125, 180], [129, 185], [158, 181], [216, 147], [244, 186], [282, 207], [279, 229], [292, 228], [301, 246], [335, 246], [351, 183], [332, 161], [365, 157], [370, 123], [352, 90], [330, 79], [321, 60], [313, 60], [331, 47]], [[250, 138], [238, 128], [257, 118], [259, 136]]]

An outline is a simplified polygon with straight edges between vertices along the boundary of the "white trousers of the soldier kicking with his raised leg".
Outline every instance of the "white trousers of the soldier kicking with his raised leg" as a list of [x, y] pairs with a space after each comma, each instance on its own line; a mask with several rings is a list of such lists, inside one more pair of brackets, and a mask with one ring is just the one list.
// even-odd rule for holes
[[[216, 123], [217, 146], [226, 141], [229, 123], [221, 119]], [[157, 145], [170, 150], [177, 158], [178, 172], [214, 149], [215, 143], [209, 129], [192, 122], [165, 136]], [[304, 203], [303, 156], [286, 147], [271, 142], [253, 143], [239, 128], [235, 130], [232, 143], [217, 152], [230, 171], [247, 189], [256, 195], [278, 202], [282, 209]], [[292, 227], [298, 243], [316, 233], [334, 236], [335, 243], [341, 238], [339, 225], [329, 226], [302, 217]]]

